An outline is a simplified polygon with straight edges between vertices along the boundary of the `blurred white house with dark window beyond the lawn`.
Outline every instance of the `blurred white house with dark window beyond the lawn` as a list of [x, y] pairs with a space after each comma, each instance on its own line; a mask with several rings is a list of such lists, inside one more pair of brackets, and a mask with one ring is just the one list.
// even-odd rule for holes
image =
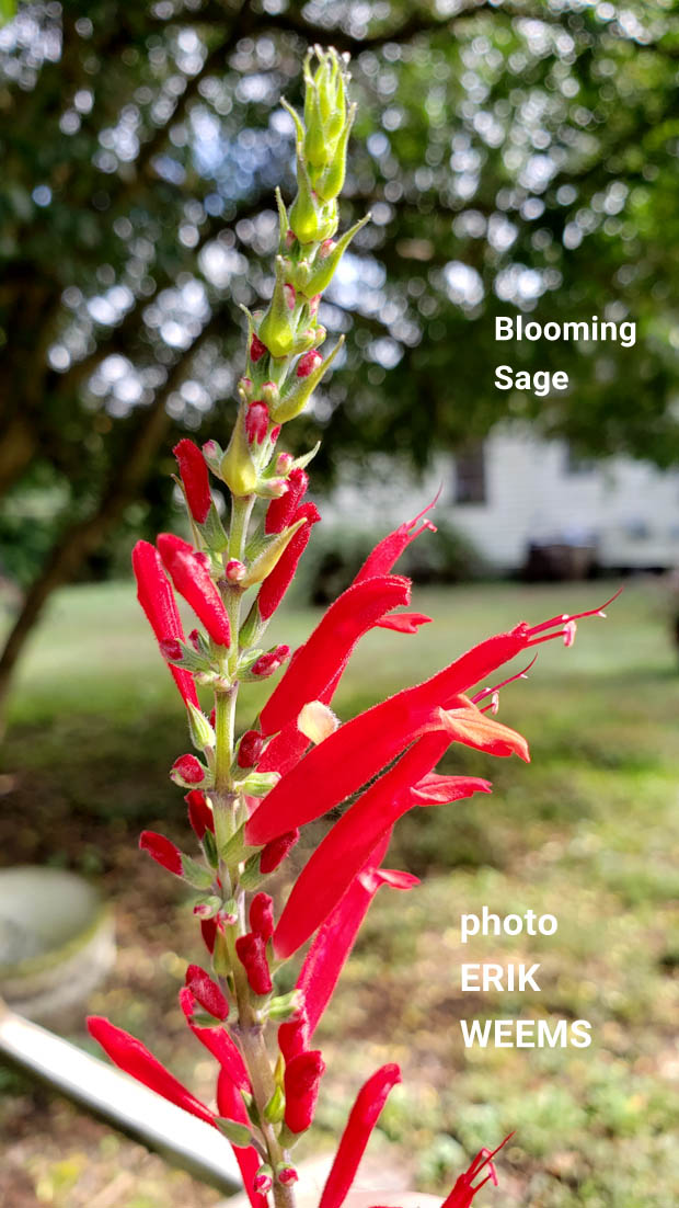
[[[381, 463], [373, 486], [345, 481], [328, 519], [353, 515], [382, 529], [441, 494], [435, 515], [464, 533], [499, 570], [526, 565], [531, 547], [586, 551], [575, 562], [615, 569], [679, 567], [679, 469], [632, 458], [576, 459], [566, 441], [545, 441], [519, 424], [498, 425], [456, 458], [439, 457], [417, 486]], [[556, 547], [556, 548], [555, 548]]]

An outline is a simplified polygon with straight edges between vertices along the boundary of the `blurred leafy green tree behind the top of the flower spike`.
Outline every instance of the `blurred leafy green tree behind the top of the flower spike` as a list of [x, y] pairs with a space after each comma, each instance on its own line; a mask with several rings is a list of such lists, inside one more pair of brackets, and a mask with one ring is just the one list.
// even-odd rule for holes
[[[324, 308], [349, 338], [300, 426], [300, 442], [326, 428], [320, 469], [385, 447], [423, 465], [505, 414], [583, 452], [677, 457], [667, 5], [23, 5], [0, 30], [0, 493], [49, 484], [62, 505], [0, 696], [53, 587], [130, 505], [157, 524], [176, 432], [230, 406], [238, 307], [271, 288], [271, 190], [286, 172], [292, 188], [280, 97], [299, 100], [315, 41], [355, 56], [345, 219], [352, 201], [374, 216]], [[542, 321], [631, 316], [638, 343], [496, 345], [496, 314], [538, 306]], [[499, 393], [510, 360], [572, 389]]]

